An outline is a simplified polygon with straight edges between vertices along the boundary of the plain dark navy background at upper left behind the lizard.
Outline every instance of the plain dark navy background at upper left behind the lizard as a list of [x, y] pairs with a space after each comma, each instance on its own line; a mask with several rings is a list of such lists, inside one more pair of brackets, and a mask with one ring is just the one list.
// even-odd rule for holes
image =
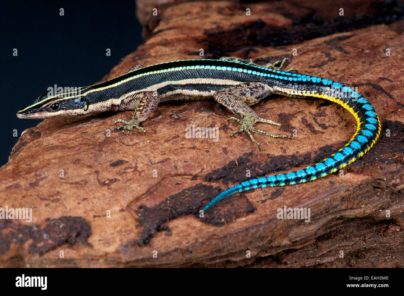
[[[21, 133], [40, 122], [19, 119], [17, 111], [54, 84], [98, 82], [141, 43], [134, 0], [3, 2], [0, 24], [0, 166]], [[111, 56], [106, 56], [107, 48]]]

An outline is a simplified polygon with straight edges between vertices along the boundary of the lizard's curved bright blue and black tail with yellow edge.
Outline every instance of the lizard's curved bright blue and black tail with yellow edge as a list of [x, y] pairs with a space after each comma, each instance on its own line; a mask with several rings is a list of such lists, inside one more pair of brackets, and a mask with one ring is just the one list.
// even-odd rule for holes
[[[381, 123], [375, 109], [364, 97], [358, 92], [353, 91], [348, 86], [344, 86], [338, 82], [306, 75], [297, 74], [297, 76], [301, 77], [301, 80], [303, 79], [303, 76], [305, 76], [305, 80], [303, 80], [305, 82], [309, 80], [315, 82], [310, 82], [310, 85], [313, 86], [311, 89], [314, 88], [316, 91], [293, 91], [278, 86], [276, 87], [277, 93], [288, 97], [318, 97], [342, 105], [356, 118], [356, 133], [345, 146], [330, 157], [324, 159], [322, 162], [319, 162], [314, 166], [309, 166], [304, 170], [244, 181], [241, 184], [235, 185], [221, 192], [203, 208], [204, 211], [214, 206], [224, 197], [237, 192], [260, 187], [293, 185], [327, 176], [328, 174], [337, 172], [340, 168], [344, 168], [348, 164], [351, 164], [359, 157], [362, 157], [376, 143], [381, 132]], [[307, 83], [302, 83], [302, 85], [307, 86]], [[339, 94], [338, 96], [335, 95], [337, 93], [335, 91], [336, 89]]]

